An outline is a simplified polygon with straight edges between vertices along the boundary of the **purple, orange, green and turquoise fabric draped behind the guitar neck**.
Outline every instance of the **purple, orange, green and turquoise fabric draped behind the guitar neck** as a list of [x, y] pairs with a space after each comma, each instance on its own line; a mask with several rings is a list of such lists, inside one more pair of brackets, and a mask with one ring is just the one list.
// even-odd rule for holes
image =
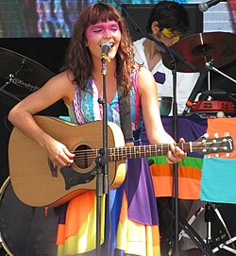
[[[162, 117], [164, 128], [173, 135], [173, 118]], [[236, 118], [203, 118], [198, 114], [177, 119], [177, 138], [194, 142], [205, 133], [213, 138], [215, 133], [225, 137], [229, 133], [236, 138]], [[143, 131], [143, 137], [145, 132]], [[148, 144], [146, 141], [145, 144]], [[165, 157], [149, 158], [156, 196], [173, 196], [173, 170]], [[216, 158], [189, 153], [178, 163], [178, 197], [201, 199], [209, 202], [236, 203], [236, 151], [227, 156], [220, 153]]]

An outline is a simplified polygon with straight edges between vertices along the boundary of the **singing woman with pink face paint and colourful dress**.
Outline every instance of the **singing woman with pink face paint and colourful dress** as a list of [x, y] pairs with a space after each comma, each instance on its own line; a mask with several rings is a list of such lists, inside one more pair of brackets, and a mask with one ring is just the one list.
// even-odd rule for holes
[[[166, 162], [182, 161], [186, 154], [164, 130], [158, 91], [152, 74], [134, 61], [133, 45], [119, 11], [104, 2], [79, 13], [66, 56], [66, 69], [28, 95], [8, 114], [9, 121], [46, 150], [55, 166], [68, 166], [75, 154], [37, 125], [34, 115], [62, 98], [76, 125], [101, 120], [104, 97], [101, 45], [110, 43], [107, 61], [107, 106], [110, 122], [120, 125], [118, 88], [129, 94], [133, 131], [141, 120], [150, 144], [168, 144]], [[155, 110], [155, 111], [154, 111]], [[93, 131], [92, 136], [93, 136]], [[93, 138], [92, 138], [93, 139]], [[180, 139], [180, 142], [184, 142]], [[132, 145], [132, 142], [126, 142]], [[101, 255], [159, 256], [159, 219], [146, 158], [126, 162], [126, 179], [104, 195], [101, 206]], [[96, 255], [96, 193], [88, 190], [62, 205], [58, 256]]]

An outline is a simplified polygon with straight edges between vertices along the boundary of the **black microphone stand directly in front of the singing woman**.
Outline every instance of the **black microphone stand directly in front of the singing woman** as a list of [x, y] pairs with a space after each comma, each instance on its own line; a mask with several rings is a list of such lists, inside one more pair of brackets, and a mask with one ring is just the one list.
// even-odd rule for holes
[[108, 155], [108, 108], [106, 92], [107, 57], [102, 55], [103, 98], [98, 103], [103, 107], [103, 147], [96, 158], [96, 256], [101, 255], [101, 202], [102, 195], [109, 191], [109, 155]]

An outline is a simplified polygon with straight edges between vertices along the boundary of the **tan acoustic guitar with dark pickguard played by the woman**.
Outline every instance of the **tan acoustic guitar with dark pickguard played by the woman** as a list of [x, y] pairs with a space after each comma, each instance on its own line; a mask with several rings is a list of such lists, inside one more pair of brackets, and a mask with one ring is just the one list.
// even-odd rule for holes
[[[35, 116], [36, 123], [75, 153], [71, 166], [55, 167], [45, 150], [19, 129], [13, 128], [8, 145], [9, 175], [16, 196], [33, 207], [59, 206], [96, 188], [96, 170], [103, 145], [103, 124], [76, 126], [57, 117]], [[230, 152], [230, 136], [177, 144], [185, 152]], [[121, 128], [108, 123], [109, 187], [118, 188], [126, 177], [126, 160], [166, 155], [168, 144], [125, 146]]]

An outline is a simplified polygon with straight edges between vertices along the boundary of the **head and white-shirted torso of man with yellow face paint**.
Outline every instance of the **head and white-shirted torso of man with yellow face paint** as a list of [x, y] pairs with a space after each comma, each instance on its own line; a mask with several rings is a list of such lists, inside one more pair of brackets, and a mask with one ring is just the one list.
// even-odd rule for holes
[[[166, 47], [177, 43], [190, 27], [187, 10], [177, 2], [160, 1], [151, 10], [146, 32]], [[135, 60], [150, 70], [157, 82], [159, 96], [173, 98], [173, 75], [162, 62], [160, 47], [154, 41], [142, 38], [134, 42]], [[184, 111], [186, 101], [194, 89], [199, 73], [177, 72], [177, 112]]]

